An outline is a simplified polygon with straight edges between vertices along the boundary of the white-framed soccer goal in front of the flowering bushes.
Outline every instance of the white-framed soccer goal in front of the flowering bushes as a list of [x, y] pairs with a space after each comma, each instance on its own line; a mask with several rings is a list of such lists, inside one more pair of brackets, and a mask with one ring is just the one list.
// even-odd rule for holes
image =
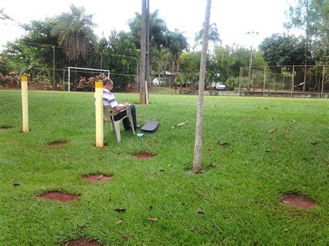
[[[67, 76], [65, 74], [67, 73]], [[71, 83], [74, 85], [79, 78], [85, 77], [90, 78], [92, 76], [99, 75], [99, 73], [103, 73], [110, 78], [110, 70], [105, 69], [86, 69], [84, 67], [65, 67], [64, 69], [64, 81], [67, 78], [67, 87], [68, 91], [71, 90]], [[72, 80], [72, 81], [71, 81]], [[65, 84], [64, 84], [65, 90]]]

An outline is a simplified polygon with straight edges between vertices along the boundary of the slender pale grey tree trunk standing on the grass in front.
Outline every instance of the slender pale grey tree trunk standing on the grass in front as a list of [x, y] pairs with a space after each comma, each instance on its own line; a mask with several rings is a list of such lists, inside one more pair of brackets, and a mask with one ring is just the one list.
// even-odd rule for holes
[[203, 26], [203, 42], [200, 63], [200, 76], [199, 76], [199, 100], [198, 109], [196, 113], [196, 130], [195, 130], [195, 146], [194, 146], [194, 162], [193, 173], [201, 173], [201, 159], [202, 159], [202, 118], [203, 118], [203, 91], [205, 89], [205, 61], [207, 58], [208, 49], [208, 33], [210, 21], [211, 0], [207, 0], [205, 8], [205, 23]]

